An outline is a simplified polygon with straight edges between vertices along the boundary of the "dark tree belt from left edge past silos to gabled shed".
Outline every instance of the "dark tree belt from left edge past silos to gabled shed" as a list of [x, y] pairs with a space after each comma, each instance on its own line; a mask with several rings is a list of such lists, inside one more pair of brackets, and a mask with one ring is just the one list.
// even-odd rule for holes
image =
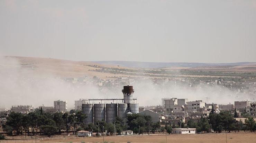
[[[71, 110], [69, 113], [46, 113], [42, 109], [34, 112], [22, 114], [11, 112], [7, 117], [7, 122], [3, 125], [3, 131], [7, 135], [55, 135], [65, 131], [69, 132], [87, 130], [91, 132], [105, 132], [110, 135], [120, 134], [123, 130], [132, 130], [134, 133], [155, 132], [160, 128], [160, 123], [152, 123], [150, 116], [139, 114], [128, 115], [126, 119], [116, 117], [113, 123], [106, 121], [95, 122], [95, 124], [84, 124], [86, 114], [82, 111]], [[104, 127], [104, 128], [103, 128]]]

